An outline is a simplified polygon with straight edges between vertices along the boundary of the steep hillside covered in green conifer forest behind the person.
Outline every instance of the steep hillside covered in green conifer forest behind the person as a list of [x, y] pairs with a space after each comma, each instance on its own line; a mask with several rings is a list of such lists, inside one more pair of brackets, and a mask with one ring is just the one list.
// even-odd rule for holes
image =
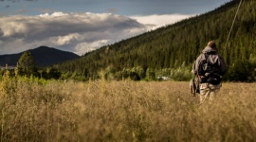
[[[74, 61], [55, 64], [63, 78], [155, 80], [167, 76], [191, 79], [192, 63], [214, 40], [229, 65], [225, 80], [255, 80], [256, 1], [244, 0], [227, 43], [240, 0], [207, 13], [86, 53]], [[227, 44], [227, 46], [226, 46]]]

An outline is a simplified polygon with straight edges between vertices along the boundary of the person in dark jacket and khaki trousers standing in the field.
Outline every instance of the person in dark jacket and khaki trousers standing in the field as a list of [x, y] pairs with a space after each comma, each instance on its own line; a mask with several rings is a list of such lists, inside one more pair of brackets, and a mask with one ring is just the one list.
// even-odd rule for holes
[[216, 44], [210, 41], [196, 59], [192, 72], [199, 80], [200, 103], [212, 99], [220, 90], [221, 78], [227, 71], [227, 65], [218, 54]]

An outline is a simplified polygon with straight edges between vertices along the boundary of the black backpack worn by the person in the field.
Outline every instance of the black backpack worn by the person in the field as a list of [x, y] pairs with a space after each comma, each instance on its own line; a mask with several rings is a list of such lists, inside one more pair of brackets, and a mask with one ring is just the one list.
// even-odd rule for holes
[[219, 75], [220, 66], [217, 62], [210, 62], [209, 56], [213, 55], [212, 53], [204, 53], [205, 60], [199, 62], [198, 75], [201, 77], [200, 83], [210, 83], [217, 85], [221, 82]]

